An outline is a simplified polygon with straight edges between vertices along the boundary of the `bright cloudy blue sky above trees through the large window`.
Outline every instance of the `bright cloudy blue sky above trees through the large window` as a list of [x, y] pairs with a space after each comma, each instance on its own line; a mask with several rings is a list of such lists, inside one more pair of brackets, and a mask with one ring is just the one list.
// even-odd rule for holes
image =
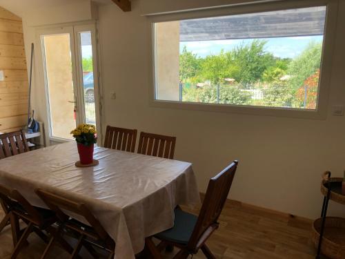
[[[183, 41], [179, 44], [180, 52], [186, 46], [188, 51], [197, 54], [199, 57], [217, 55], [223, 49], [229, 51], [239, 44], [250, 44], [254, 39], [224, 39], [215, 41]], [[302, 36], [268, 38], [266, 51], [273, 53], [275, 57], [294, 58], [297, 57], [311, 41], [322, 42], [323, 36]]]

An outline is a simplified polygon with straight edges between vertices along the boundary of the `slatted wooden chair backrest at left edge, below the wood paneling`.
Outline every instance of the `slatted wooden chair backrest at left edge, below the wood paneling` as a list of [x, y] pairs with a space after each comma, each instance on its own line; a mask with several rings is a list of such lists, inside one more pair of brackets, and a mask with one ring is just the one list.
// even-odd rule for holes
[[23, 131], [1, 134], [0, 140], [0, 159], [29, 151]]

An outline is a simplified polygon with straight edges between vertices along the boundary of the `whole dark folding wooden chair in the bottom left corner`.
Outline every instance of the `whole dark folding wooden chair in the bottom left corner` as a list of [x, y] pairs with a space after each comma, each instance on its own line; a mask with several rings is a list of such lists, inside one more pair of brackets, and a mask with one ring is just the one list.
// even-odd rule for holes
[[[3, 185], [0, 185], [0, 199], [6, 213], [5, 218], [0, 223], [0, 231], [8, 221], [12, 227], [14, 250], [11, 259], [17, 258], [23, 244], [26, 244], [27, 238], [32, 232], [37, 233], [43, 241], [48, 242], [48, 236], [42, 231], [48, 231], [50, 226], [57, 222], [53, 211], [32, 206], [17, 189], [10, 189]], [[19, 219], [27, 224], [23, 230], [19, 227]]]

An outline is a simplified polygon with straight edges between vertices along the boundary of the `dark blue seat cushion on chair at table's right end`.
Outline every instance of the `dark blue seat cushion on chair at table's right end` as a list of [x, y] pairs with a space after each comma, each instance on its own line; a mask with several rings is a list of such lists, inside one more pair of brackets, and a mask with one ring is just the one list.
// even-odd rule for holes
[[196, 215], [187, 213], [181, 209], [175, 209], [174, 227], [157, 233], [155, 238], [179, 244], [187, 244], [190, 236], [192, 236], [195, 224], [197, 224]]

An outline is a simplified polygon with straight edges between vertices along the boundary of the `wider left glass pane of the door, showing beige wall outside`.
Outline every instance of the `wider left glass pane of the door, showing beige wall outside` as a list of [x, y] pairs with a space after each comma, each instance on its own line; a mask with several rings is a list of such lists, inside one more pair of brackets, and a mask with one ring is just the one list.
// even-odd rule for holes
[[75, 128], [75, 95], [73, 93], [70, 35], [44, 35], [46, 81], [52, 137], [72, 139]]

